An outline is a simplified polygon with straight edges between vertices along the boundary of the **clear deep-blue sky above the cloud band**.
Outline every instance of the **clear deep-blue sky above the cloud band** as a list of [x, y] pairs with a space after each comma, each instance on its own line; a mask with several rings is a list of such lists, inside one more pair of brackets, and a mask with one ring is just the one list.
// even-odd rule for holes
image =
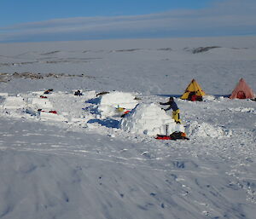
[[199, 9], [212, 0], [1, 0], [0, 26], [70, 17], [138, 15]]

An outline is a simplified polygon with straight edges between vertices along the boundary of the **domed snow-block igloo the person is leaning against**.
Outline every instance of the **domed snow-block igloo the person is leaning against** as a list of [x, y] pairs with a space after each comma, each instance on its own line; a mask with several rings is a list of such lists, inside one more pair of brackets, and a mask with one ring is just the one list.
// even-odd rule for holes
[[182, 124], [174, 120], [154, 103], [138, 104], [120, 122], [120, 129], [144, 135], [170, 135], [174, 131], [183, 131]]

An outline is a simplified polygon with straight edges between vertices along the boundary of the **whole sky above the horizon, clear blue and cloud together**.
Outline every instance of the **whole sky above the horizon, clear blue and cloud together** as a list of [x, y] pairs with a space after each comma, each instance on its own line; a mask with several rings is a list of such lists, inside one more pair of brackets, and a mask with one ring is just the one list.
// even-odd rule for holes
[[255, 0], [1, 0], [0, 42], [255, 35]]

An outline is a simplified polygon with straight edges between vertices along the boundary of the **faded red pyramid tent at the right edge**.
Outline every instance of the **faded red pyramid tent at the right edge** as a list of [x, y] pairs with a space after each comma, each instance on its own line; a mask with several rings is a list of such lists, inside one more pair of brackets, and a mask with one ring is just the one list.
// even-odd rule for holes
[[230, 99], [250, 99], [253, 98], [253, 89], [251, 89], [246, 81], [241, 78], [236, 85], [236, 88], [233, 90], [233, 92], [230, 95]]

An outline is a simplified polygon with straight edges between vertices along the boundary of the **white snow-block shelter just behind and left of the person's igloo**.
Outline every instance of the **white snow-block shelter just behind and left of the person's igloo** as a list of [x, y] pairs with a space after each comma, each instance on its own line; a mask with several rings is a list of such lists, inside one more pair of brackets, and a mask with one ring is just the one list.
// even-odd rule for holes
[[122, 110], [131, 110], [136, 107], [137, 103], [138, 101], [135, 100], [135, 95], [113, 91], [109, 94], [102, 95], [98, 110], [101, 112], [102, 117], [120, 116], [123, 114]]

